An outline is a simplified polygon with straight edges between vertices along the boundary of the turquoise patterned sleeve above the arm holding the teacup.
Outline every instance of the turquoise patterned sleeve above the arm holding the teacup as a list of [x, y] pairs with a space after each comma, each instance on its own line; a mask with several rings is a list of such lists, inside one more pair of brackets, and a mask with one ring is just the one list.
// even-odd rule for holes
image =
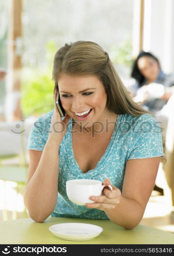
[[131, 144], [128, 160], [164, 156], [162, 128], [153, 116], [142, 115], [132, 128], [134, 143]]

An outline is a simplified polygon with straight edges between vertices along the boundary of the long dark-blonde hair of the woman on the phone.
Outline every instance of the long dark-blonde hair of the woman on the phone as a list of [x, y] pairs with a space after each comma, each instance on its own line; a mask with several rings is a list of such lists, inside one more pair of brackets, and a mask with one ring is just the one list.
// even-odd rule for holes
[[97, 76], [103, 82], [107, 93], [107, 108], [116, 114], [152, 115], [134, 102], [115, 71], [107, 52], [95, 42], [77, 41], [60, 48], [54, 58], [54, 90], [58, 87], [57, 82], [62, 73]]

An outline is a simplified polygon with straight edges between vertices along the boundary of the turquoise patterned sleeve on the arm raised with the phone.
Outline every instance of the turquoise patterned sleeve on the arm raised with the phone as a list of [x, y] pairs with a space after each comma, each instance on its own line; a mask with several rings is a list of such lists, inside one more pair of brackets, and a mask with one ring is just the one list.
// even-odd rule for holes
[[29, 135], [27, 145], [28, 150], [43, 151], [47, 137], [44, 127], [44, 119], [42, 117], [38, 118], [33, 124]]

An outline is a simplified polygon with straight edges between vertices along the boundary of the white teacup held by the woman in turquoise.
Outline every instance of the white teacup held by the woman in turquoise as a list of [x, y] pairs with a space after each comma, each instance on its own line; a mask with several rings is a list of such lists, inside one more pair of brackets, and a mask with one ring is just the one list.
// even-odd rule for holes
[[[66, 181], [66, 193], [69, 200], [78, 205], [85, 205], [86, 203], [94, 203], [89, 197], [101, 196], [105, 185], [99, 180], [68, 180]], [[112, 190], [112, 186], [108, 185]]]

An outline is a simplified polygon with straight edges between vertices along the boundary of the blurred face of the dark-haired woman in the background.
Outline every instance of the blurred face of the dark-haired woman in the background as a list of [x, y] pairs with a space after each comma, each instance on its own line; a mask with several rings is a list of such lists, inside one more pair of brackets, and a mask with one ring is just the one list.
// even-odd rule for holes
[[148, 81], [153, 82], [156, 80], [159, 74], [159, 66], [158, 62], [154, 58], [143, 56], [139, 58], [137, 65], [141, 74]]

